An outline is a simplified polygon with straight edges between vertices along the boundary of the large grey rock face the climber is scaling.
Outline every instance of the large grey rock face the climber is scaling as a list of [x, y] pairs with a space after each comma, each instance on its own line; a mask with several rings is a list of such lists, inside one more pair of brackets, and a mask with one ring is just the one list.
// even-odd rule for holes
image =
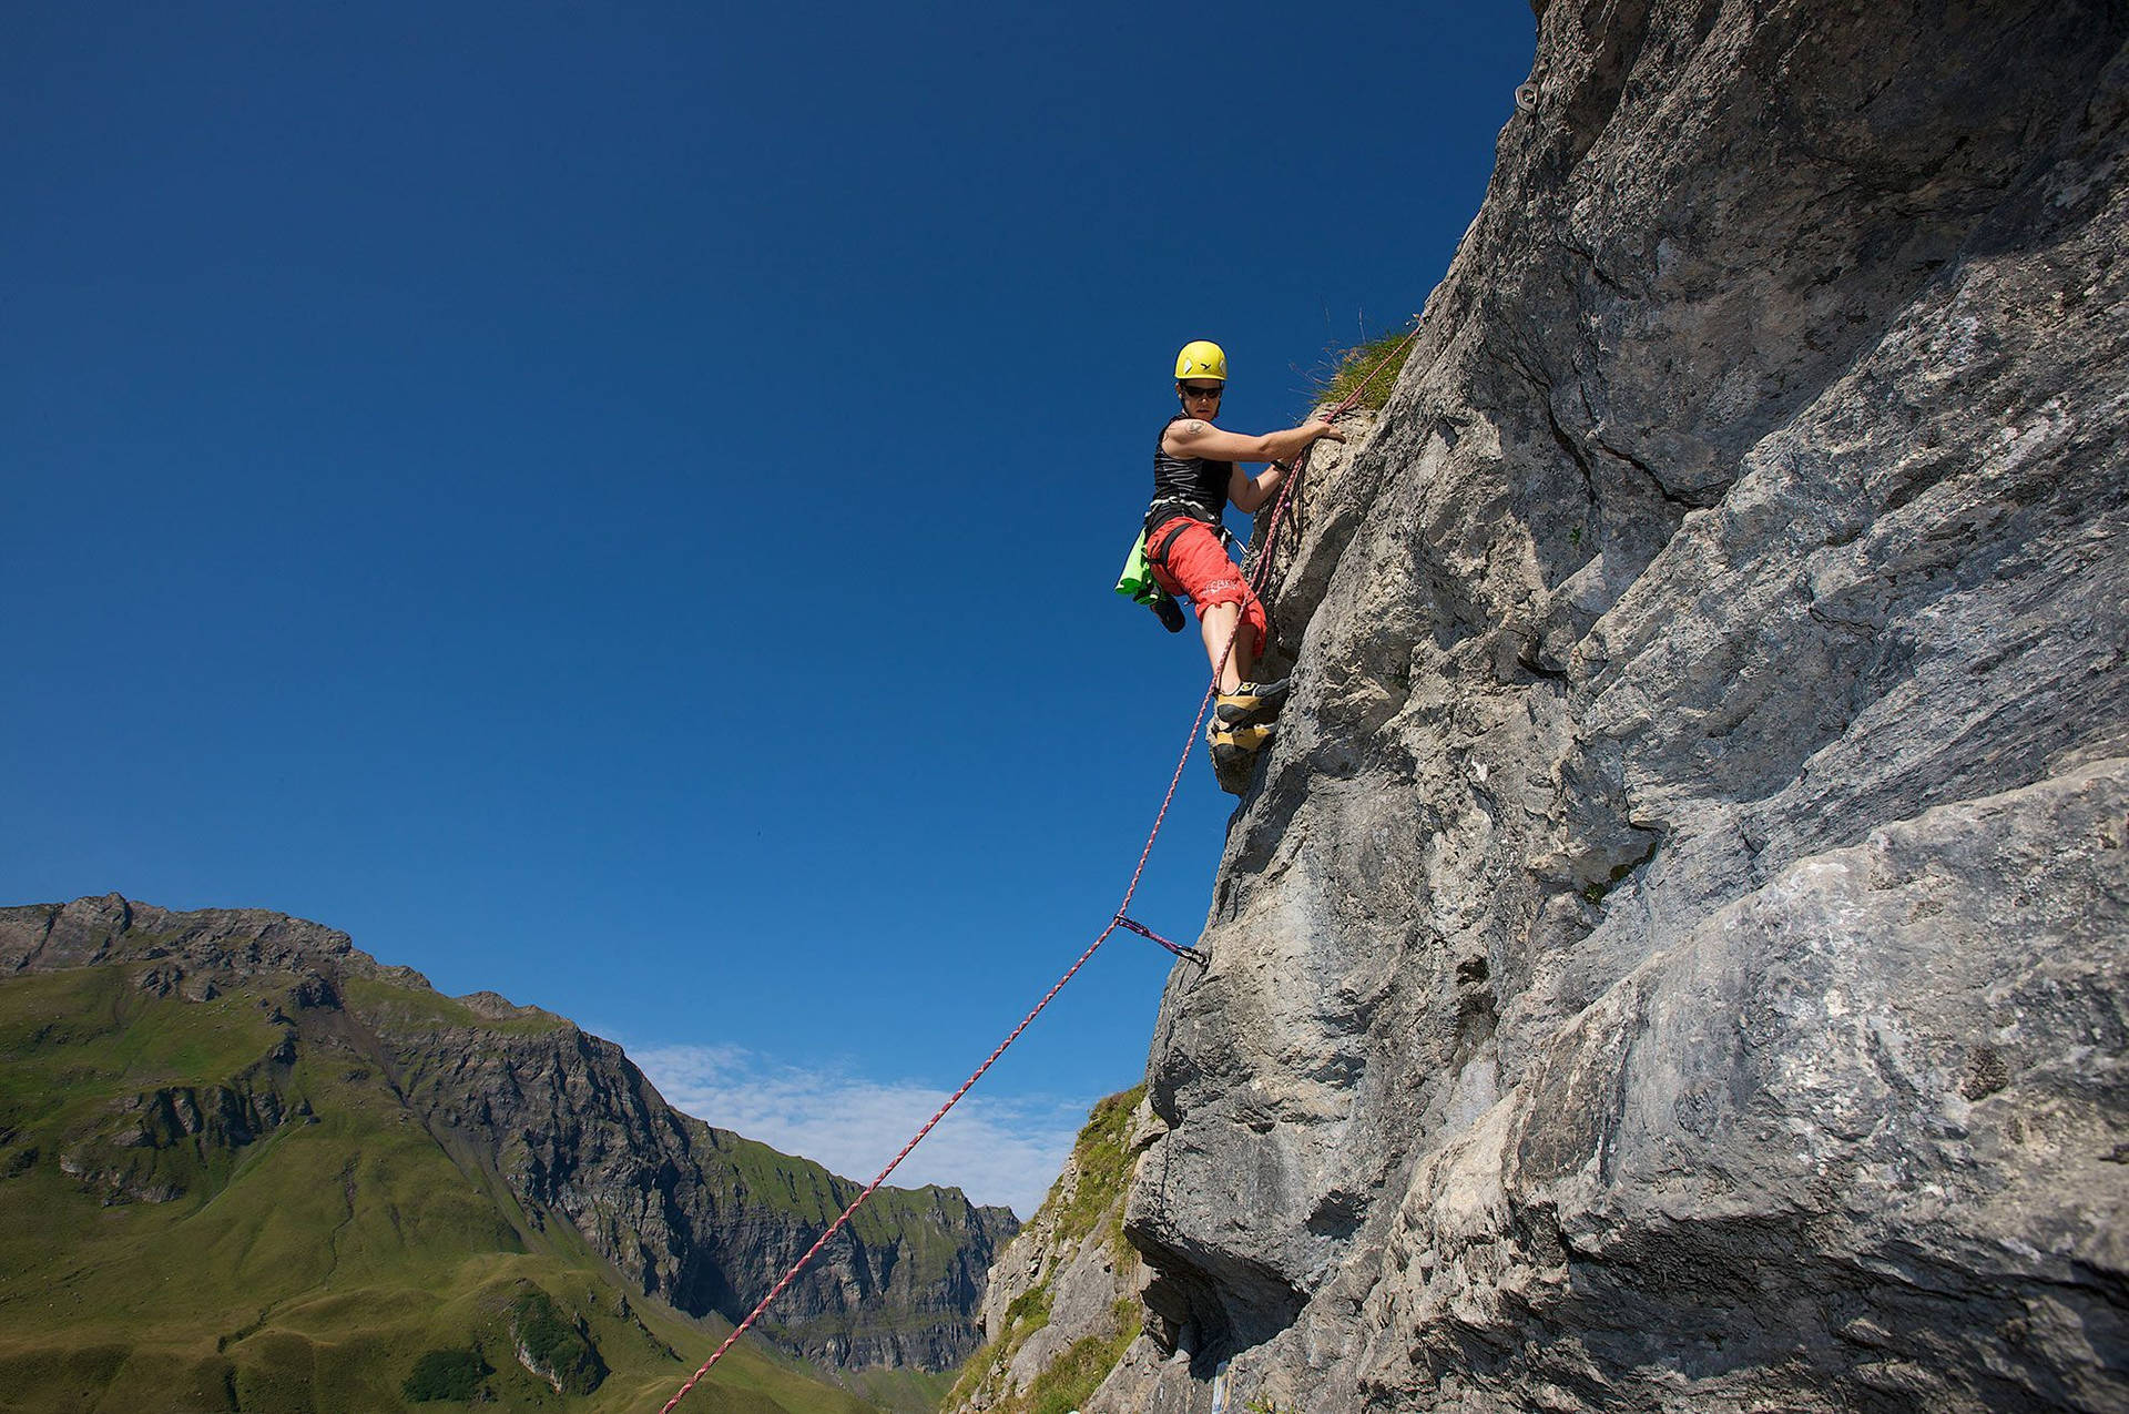
[[2129, 6], [1537, 9], [1084, 1408], [2129, 1408]]

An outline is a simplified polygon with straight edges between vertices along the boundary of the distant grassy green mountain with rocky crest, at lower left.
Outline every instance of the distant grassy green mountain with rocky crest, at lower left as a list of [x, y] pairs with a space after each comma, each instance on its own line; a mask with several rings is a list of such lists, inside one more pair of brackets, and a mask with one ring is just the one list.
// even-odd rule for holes
[[[847, 1186], [664, 1107], [562, 1018], [451, 1001], [315, 937], [260, 946], [294, 922], [270, 914], [204, 946], [200, 916], [96, 903], [123, 926], [87, 950], [23, 926], [51, 909], [0, 909], [4, 1410], [656, 1410], [730, 1329], [715, 1301], [696, 1318], [664, 1297], [758, 1297], [720, 1250], [773, 1256]], [[609, 1114], [628, 1107], [641, 1124]], [[918, 1269], [954, 1267], [922, 1218], [964, 1199], [881, 1199], [852, 1246], [894, 1252], [922, 1297]], [[749, 1231], [696, 1222], [705, 1205]], [[873, 1295], [879, 1327], [937, 1325], [941, 1301]], [[881, 1339], [862, 1303], [786, 1320]], [[941, 1384], [839, 1378], [901, 1408]], [[818, 1380], [743, 1342], [683, 1408], [877, 1408]]]

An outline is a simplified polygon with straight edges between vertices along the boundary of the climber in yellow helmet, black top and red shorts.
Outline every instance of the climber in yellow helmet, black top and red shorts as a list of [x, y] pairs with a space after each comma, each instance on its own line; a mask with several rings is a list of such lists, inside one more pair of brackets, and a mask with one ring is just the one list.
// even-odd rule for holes
[[[1154, 447], [1154, 503], [1145, 509], [1145, 558], [1162, 590], [1186, 596], [1199, 615], [1205, 658], [1220, 675], [1205, 745], [1220, 788], [1250, 788], [1256, 752], [1271, 739], [1271, 720], [1286, 701], [1286, 679], [1252, 679], [1269, 620], [1265, 605], [1228, 558], [1220, 515], [1233, 505], [1254, 515], [1280, 494], [1292, 462], [1318, 437], [1346, 441], [1328, 422], [1305, 422], [1284, 432], [1248, 437], [1214, 426], [1226, 392], [1226, 354], [1205, 339], [1175, 356], [1175, 396], [1182, 411], [1160, 428]], [[1241, 462], [1269, 462], [1250, 475]], [[1228, 652], [1228, 639], [1235, 647]], [[1224, 662], [1222, 662], [1224, 658]]]

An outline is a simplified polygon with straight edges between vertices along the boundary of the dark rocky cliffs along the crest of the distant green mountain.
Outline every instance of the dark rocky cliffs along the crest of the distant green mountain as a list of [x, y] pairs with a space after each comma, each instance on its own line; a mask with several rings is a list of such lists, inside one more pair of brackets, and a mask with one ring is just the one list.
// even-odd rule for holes
[[[439, 997], [311, 922], [117, 894], [0, 909], [0, 977], [87, 967], [123, 969], [164, 999], [258, 992], [281, 1026], [279, 1048], [228, 1084], [141, 1095], [53, 1156], [113, 1201], [179, 1197], [185, 1171], [158, 1165], [160, 1150], [238, 1150], [309, 1118], [277, 1084], [298, 1056], [379, 1069], [405, 1120], [477, 1186], [507, 1190], [511, 1222], [573, 1227], [643, 1293], [696, 1316], [745, 1316], [858, 1193], [679, 1114], [617, 1046], [564, 1018], [494, 992]], [[771, 1308], [766, 1335], [824, 1365], [950, 1369], [977, 1344], [984, 1278], [1016, 1227], [958, 1188], [881, 1188]]]

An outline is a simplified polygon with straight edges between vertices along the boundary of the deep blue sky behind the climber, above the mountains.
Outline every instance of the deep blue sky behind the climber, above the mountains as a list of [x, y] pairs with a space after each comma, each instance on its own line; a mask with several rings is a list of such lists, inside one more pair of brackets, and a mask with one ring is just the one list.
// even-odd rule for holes
[[[1182, 747], [1194, 635], [1109, 594], [1175, 349], [1290, 426], [1529, 60], [1522, 4], [11, 6], [0, 901], [317, 918], [871, 1178]], [[1201, 754], [1171, 937], [1228, 803]], [[1167, 960], [896, 1182], [1030, 1212]]]

